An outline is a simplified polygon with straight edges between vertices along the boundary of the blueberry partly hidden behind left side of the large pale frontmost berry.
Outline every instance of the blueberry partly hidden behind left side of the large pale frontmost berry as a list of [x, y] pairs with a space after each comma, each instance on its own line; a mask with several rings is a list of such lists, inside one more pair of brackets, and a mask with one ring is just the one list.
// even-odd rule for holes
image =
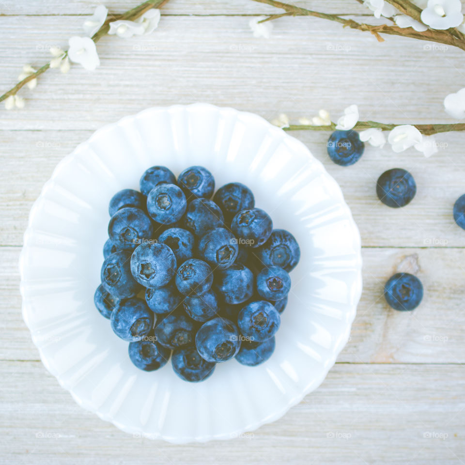
[[140, 291], [140, 284], [131, 274], [131, 252], [120, 250], [110, 254], [100, 271], [102, 286], [120, 299], [133, 297]]

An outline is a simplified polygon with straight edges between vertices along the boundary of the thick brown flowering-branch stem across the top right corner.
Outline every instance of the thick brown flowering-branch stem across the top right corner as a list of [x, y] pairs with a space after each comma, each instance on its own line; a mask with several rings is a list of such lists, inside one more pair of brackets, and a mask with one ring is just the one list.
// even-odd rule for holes
[[[452, 47], [458, 47], [465, 50], [465, 35], [455, 28], [449, 28], [446, 30], [438, 29], [426, 29], [426, 31], [416, 31], [412, 27], [400, 28], [398, 26], [390, 26], [387, 24], [381, 24], [374, 26], [371, 24], [359, 23], [353, 19], [342, 18], [337, 15], [330, 15], [318, 11], [308, 10], [301, 8], [289, 3], [284, 3], [277, 0], [253, 0], [259, 3], [266, 3], [276, 8], [284, 10], [294, 16], [315, 16], [322, 19], [328, 19], [330, 21], [336, 21], [343, 25], [343, 27], [349, 27], [351, 29], [357, 29], [359, 31], [371, 32], [379, 42], [384, 42], [384, 39], [380, 34], [391, 34], [400, 35], [403, 37], [411, 37], [413, 39], [427, 40], [432, 42], [438, 42], [440, 44], [450, 45]], [[387, 0], [388, 3], [395, 6], [399, 11], [407, 16], [412, 17], [416, 21], [420, 20], [421, 10], [408, 0]]]

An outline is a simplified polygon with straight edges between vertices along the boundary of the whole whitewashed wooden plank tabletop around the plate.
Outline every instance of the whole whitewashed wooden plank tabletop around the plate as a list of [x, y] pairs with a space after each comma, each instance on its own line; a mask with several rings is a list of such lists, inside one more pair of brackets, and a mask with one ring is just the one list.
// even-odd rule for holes
[[[299, 1], [341, 15], [370, 12], [350, 0]], [[137, 2], [111, 0], [121, 13]], [[0, 2], [0, 88], [25, 63], [81, 34], [95, 3]], [[176, 446], [134, 438], [82, 410], [44, 368], [21, 317], [18, 255], [29, 210], [56, 164], [95, 129], [155, 105], [209, 102], [293, 121], [321, 108], [337, 119], [453, 122], [444, 97], [465, 86], [464, 52], [413, 39], [343, 30], [317, 18], [283, 17], [271, 39], [250, 16], [275, 12], [250, 0], [171, 0], [158, 30], [104, 37], [101, 66], [50, 70], [22, 92], [26, 108], [0, 116], [0, 462], [2, 464], [464, 464], [465, 231], [452, 206], [465, 192], [464, 134], [437, 137], [439, 153], [367, 147], [354, 166], [333, 164], [326, 132], [298, 132], [340, 183], [362, 236], [364, 290], [349, 343], [323, 385], [283, 418], [230, 441]], [[367, 19], [367, 18], [365, 18]], [[375, 195], [385, 170], [410, 171], [411, 204]], [[417, 310], [389, 309], [382, 295], [397, 270], [414, 271]]]

